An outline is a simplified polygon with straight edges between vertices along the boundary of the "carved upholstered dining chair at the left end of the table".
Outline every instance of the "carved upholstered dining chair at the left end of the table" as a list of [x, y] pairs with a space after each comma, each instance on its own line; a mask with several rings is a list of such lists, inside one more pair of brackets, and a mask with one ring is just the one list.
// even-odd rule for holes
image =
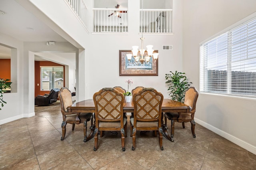
[[66, 134], [66, 124], [72, 124], [72, 130], [74, 130], [76, 124], [83, 123], [84, 124], [84, 142], [87, 140], [86, 130], [87, 130], [87, 122], [91, 121], [91, 126], [93, 125], [92, 113], [77, 113], [77, 112], [68, 112], [67, 107], [72, 105], [72, 94], [71, 91], [66, 87], [62, 87], [58, 92], [58, 97], [60, 100], [61, 113], [63, 117], [62, 122], [62, 136], [61, 140], [64, 140]]

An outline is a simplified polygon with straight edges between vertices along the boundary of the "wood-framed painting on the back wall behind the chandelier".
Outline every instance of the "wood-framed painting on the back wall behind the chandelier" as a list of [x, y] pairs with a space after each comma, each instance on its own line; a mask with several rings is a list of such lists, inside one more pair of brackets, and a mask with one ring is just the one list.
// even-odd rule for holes
[[[158, 53], [155, 50], [153, 53]], [[150, 61], [143, 64], [140, 61], [134, 61], [134, 57], [129, 60], [126, 54], [132, 54], [131, 50], [119, 50], [119, 76], [158, 76], [158, 59], [153, 61], [153, 57], [150, 57]]]

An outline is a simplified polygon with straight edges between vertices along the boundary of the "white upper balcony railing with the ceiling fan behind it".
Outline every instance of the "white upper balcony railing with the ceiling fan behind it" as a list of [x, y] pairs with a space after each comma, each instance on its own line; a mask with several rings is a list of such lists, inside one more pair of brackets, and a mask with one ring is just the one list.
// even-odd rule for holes
[[92, 10], [94, 32], [128, 32], [128, 9], [93, 8]]

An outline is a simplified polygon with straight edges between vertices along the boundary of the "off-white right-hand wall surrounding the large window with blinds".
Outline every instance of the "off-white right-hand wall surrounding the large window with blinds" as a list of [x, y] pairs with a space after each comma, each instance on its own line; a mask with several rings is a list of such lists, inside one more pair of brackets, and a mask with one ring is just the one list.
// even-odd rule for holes
[[[183, 68], [199, 89], [199, 43], [256, 12], [255, 0], [184, 0]], [[256, 154], [254, 99], [200, 93], [196, 123]]]

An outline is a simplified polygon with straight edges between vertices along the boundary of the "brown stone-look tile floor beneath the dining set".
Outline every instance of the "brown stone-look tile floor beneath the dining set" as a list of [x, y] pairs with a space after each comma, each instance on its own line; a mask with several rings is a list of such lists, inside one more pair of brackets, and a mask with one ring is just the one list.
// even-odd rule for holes
[[94, 139], [83, 142], [82, 124], [74, 131], [67, 125], [65, 139], [60, 140], [62, 114], [58, 102], [35, 107], [35, 112], [34, 117], [0, 125], [0, 169], [256, 170], [256, 155], [198, 124], [193, 138], [190, 123], [185, 123], [185, 129], [176, 123], [174, 142], [163, 138], [164, 150], [151, 132], [137, 133], [135, 151], [131, 150], [128, 124], [125, 152], [120, 133], [110, 132], [99, 138], [94, 152]]

